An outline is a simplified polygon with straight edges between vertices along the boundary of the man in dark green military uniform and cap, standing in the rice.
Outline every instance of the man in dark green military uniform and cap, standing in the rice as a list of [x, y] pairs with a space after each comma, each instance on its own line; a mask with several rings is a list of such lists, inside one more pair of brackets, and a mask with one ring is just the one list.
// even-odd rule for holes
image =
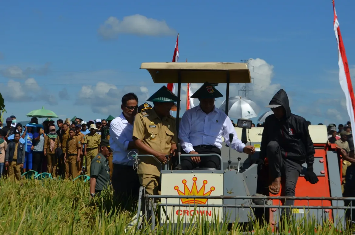
[[111, 153], [110, 141], [101, 140], [100, 153], [91, 162], [90, 196], [100, 196], [101, 191], [110, 184], [110, 168], [107, 157]]

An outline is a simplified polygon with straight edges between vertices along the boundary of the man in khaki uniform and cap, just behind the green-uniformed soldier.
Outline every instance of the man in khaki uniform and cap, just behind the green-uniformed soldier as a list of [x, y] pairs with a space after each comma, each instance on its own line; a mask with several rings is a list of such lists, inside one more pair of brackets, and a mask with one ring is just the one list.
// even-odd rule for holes
[[86, 158], [86, 174], [90, 175], [90, 166], [94, 157], [99, 152], [99, 145], [101, 143], [101, 136], [96, 133], [97, 127], [95, 124], [90, 125], [90, 133], [84, 139], [84, 156]]

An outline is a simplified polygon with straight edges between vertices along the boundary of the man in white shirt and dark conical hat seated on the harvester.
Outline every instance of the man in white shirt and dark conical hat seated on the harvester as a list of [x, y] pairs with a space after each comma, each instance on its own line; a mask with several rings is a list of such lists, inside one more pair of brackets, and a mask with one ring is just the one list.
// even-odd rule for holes
[[[221, 154], [222, 137], [229, 145], [229, 134], [233, 133], [232, 149], [240, 153], [253, 154], [254, 146], [245, 146], [237, 138], [229, 117], [214, 106], [215, 98], [223, 97], [210, 83], [206, 82], [191, 98], [198, 98], [200, 105], [187, 110], [179, 125], [179, 140], [182, 150], [187, 154]], [[181, 157], [182, 170], [197, 168], [219, 169], [219, 158]]]

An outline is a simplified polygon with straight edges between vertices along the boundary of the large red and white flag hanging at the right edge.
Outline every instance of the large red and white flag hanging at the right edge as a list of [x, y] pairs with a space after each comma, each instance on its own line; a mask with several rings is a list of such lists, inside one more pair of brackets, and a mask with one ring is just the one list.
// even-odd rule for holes
[[[339, 82], [340, 86], [343, 89], [346, 98], [346, 109], [348, 110], [348, 115], [350, 117], [351, 127], [355, 126], [354, 120], [354, 110], [355, 110], [355, 98], [354, 98], [354, 90], [353, 85], [351, 84], [350, 72], [349, 72], [349, 65], [348, 59], [346, 59], [345, 54], [345, 47], [343, 43], [342, 34], [340, 33], [339, 21], [337, 12], [335, 11], [335, 4], [333, 2], [333, 11], [334, 11], [334, 32], [335, 37], [337, 38], [338, 42], [338, 65], [339, 65]], [[354, 138], [355, 143], [355, 138]]]

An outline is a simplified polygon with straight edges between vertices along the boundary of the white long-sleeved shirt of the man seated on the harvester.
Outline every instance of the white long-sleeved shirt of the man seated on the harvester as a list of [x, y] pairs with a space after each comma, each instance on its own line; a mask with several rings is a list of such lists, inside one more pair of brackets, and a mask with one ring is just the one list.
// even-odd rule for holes
[[179, 125], [179, 140], [186, 153], [195, 151], [192, 146], [212, 145], [222, 148], [222, 136], [229, 146], [229, 134], [233, 133], [232, 149], [242, 153], [245, 144], [242, 143], [235, 132], [229, 117], [220, 109], [214, 107], [206, 114], [200, 105], [186, 110]]

